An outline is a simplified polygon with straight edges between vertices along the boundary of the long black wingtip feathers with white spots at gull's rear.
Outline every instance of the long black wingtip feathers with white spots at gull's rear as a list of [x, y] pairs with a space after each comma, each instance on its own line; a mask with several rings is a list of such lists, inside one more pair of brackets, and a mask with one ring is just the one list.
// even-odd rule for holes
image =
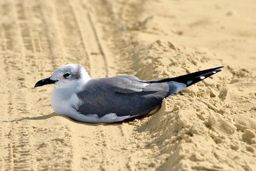
[[186, 87], [189, 87], [195, 83], [198, 83], [198, 82], [208, 78], [211, 75], [216, 74], [217, 72], [222, 71], [222, 70], [219, 70], [219, 68], [223, 68], [223, 67], [217, 67], [217, 68], [211, 68], [208, 70], [197, 71], [197, 72], [193, 72], [191, 74], [177, 76], [175, 78], [150, 80], [150, 81], [148, 81], [148, 83], [165, 83], [165, 82], [173, 81], [173, 82], [178, 82], [178, 83], [184, 83], [184, 84], [186, 84]]

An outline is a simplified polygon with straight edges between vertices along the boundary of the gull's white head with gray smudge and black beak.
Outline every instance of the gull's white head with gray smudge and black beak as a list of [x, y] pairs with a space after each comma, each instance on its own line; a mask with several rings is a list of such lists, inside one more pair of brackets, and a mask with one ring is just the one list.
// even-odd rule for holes
[[56, 88], [69, 88], [82, 86], [90, 79], [85, 68], [80, 64], [66, 64], [54, 71], [53, 75], [49, 78], [39, 80], [39, 82], [35, 84], [35, 87], [52, 84]]

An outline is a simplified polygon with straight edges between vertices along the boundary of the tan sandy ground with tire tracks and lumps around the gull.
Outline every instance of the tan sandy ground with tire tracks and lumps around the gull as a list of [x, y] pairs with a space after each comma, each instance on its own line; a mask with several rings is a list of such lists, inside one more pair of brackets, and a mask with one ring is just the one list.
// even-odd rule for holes
[[[0, 170], [256, 170], [256, 2], [0, 1]], [[154, 115], [87, 124], [51, 108], [67, 63], [91, 78], [222, 72]]]

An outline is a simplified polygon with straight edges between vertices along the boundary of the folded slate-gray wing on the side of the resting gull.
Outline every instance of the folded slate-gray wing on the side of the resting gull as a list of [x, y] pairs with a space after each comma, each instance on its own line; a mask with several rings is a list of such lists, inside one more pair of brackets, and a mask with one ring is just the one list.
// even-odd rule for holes
[[91, 79], [84, 91], [77, 93], [83, 102], [78, 112], [84, 115], [95, 113], [99, 117], [107, 113], [141, 115], [161, 105], [162, 100], [171, 94], [169, 90], [167, 83], [151, 84], [130, 75]]

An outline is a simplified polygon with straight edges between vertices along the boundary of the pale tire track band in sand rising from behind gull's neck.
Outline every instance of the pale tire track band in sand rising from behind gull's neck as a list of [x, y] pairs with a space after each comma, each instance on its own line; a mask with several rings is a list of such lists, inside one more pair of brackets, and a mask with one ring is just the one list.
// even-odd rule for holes
[[72, 1], [61, 0], [54, 1], [54, 14], [66, 51], [64, 59], [82, 64], [92, 78], [107, 76], [105, 55], [87, 11]]

